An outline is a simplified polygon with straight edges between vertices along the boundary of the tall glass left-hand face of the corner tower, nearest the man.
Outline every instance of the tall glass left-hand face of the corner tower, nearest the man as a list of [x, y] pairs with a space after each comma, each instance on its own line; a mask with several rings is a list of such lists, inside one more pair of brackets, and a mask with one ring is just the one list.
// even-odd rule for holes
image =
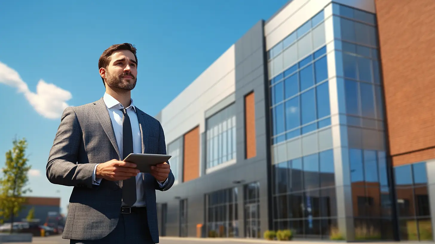
[[322, 10], [268, 54], [275, 230], [329, 238], [337, 227], [328, 61]]

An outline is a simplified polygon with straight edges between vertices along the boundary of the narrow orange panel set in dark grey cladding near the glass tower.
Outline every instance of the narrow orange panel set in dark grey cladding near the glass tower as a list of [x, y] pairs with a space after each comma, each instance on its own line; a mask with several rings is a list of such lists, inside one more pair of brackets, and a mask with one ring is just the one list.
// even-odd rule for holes
[[255, 141], [255, 102], [254, 92], [245, 96], [245, 135], [246, 135], [246, 159], [257, 156]]

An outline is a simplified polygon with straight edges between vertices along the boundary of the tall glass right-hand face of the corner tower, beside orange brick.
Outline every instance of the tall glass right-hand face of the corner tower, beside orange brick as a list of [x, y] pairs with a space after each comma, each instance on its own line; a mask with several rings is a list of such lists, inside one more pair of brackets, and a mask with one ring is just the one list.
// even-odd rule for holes
[[335, 3], [333, 14], [335, 55], [341, 57], [336, 63], [343, 71], [337, 83], [344, 88], [338, 100], [345, 102], [340, 124], [348, 133], [348, 147], [341, 150], [349, 156], [355, 239], [392, 239], [376, 17]]

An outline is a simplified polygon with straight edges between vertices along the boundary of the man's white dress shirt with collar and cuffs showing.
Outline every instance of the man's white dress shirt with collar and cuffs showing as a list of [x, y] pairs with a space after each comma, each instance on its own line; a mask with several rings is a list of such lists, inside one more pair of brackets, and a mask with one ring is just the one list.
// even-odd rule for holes
[[[118, 102], [111, 95], [104, 93], [103, 96], [104, 103], [107, 106], [107, 110], [109, 111], [110, 120], [112, 121], [113, 130], [115, 132], [116, 142], [118, 144], [119, 152], [121, 154], [121, 158], [125, 158], [127, 155], [122, 155], [123, 145], [122, 145], [122, 117], [123, 114], [120, 109], [124, 108], [124, 106]], [[133, 99], [131, 99], [131, 104], [127, 108], [127, 115], [130, 118], [131, 123], [131, 132], [133, 133], [133, 153], [142, 153], [142, 139], [141, 139], [141, 130], [139, 129], [139, 121], [137, 120], [136, 115], [136, 107], [134, 106]], [[95, 185], [99, 185], [101, 182], [100, 179], [95, 179], [95, 171], [97, 169], [98, 164], [94, 168], [94, 173], [92, 174], [92, 182]], [[161, 187], [163, 187], [167, 183], [167, 179], [164, 183], [157, 181]], [[134, 203], [132, 207], [145, 207], [145, 196], [143, 190], [143, 176], [142, 173], [138, 173], [136, 176], [136, 197], [137, 201]], [[122, 205], [125, 205], [124, 202]]]

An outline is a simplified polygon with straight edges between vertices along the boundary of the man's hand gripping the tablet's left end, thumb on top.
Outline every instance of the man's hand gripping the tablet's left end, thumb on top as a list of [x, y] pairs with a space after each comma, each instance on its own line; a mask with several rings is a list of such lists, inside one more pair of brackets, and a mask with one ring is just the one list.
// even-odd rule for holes
[[136, 164], [112, 159], [106, 163], [100, 163], [95, 170], [95, 178], [106, 180], [127, 180], [132, 176], [137, 176], [139, 169]]

